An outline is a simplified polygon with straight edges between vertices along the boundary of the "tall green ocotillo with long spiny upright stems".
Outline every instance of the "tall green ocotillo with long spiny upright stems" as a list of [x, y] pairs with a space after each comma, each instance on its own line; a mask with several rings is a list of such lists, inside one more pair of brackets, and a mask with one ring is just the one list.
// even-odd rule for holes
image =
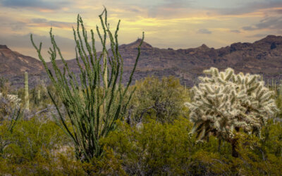
[[[103, 19], [104, 15], [104, 19]], [[99, 139], [106, 137], [111, 130], [115, 128], [115, 121], [122, 118], [127, 109], [128, 103], [134, 92], [128, 92], [128, 87], [133, 79], [133, 73], [140, 56], [140, 46], [138, 46], [138, 54], [135, 60], [134, 68], [131, 72], [128, 84], [122, 88], [123, 80], [123, 58], [118, 51], [118, 25], [116, 31], [112, 34], [107, 23], [106, 8], [99, 15], [104, 35], [100, 33], [97, 27], [97, 34], [102, 42], [103, 52], [97, 56], [95, 49], [94, 32], [91, 30], [92, 46], [87, 40], [87, 31], [83, 25], [82, 18], [78, 15], [77, 29], [73, 29], [74, 39], [76, 43], [76, 61], [80, 68], [80, 80], [75, 77], [74, 73], [68, 68], [66, 60], [61, 54], [61, 50], [57, 46], [52, 29], [49, 34], [51, 44], [49, 54], [51, 55], [52, 71], [47, 67], [47, 63], [41, 54], [42, 43], [39, 47], [35, 45], [30, 35], [31, 41], [37, 50], [39, 59], [44, 64], [44, 68], [51, 79], [52, 84], [59, 93], [63, 106], [66, 109], [67, 118], [71, 127], [68, 125], [66, 117], [60, 111], [60, 107], [54, 101], [54, 97], [49, 92], [56, 109], [59, 113], [57, 119], [61, 128], [68, 134], [75, 144], [75, 155], [81, 161], [91, 162], [93, 157], [102, 156], [102, 146]], [[80, 34], [82, 30], [82, 36]], [[111, 44], [112, 56], [109, 56], [106, 50], [106, 39], [109, 37]], [[79, 56], [78, 56], [79, 54]], [[59, 55], [63, 61], [63, 71], [56, 64], [56, 57]], [[104, 63], [100, 62], [104, 58]], [[80, 59], [82, 62], [80, 62]], [[109, 65], [106, 64], [106, 61]], [[109, 74], [107, 73], [109, 66]], [[102, 83], [102, 84], [101, 84]]]

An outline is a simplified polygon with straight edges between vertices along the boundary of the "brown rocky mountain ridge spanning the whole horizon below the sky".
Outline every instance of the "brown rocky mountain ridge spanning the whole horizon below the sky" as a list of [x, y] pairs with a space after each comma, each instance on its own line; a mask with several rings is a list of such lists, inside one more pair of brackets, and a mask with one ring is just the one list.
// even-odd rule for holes
[[[140, 41], [141, 39], [137, 39], [130, 44], [119, 46], [124, 61], [124, 82], [128, 80], [130, 70], [133, 68]], [[111, 53], [110, 50], [109, 53]], [[74, 73], [78, 73], [75, 59], [67, 62], [69, 68]], [[60, 67], [63, 66], [60, 61], [58, 64]], [[15, 77], [23, 75], [25, 70], [37, 77], [34, 79], [35, 84], [36, 80], [47, 79], [40, 61], [11, 51], [5, 45], [0, 45], [0, 66], [0, 75], [10, 77], [12, 82]], [[216, 67], [219, 70], [230, 67], [236, 73], [257, 73], [264, 75], [266, 79], [274, 77], [280, 80], [282, 78], [282, 37], [269, 35], [254, 43], [238, 42], [220, 49], [209, 48], [205, 44], [190, 49], [159, 49], [143, 42], [133, 79], [140, 80], [147, 75], [157, 77], [173, 75], [178, 77], [182, 84], [185, 82], [186, 85], [192, 86], [197, 83], [197, 77], [202, 75], [202, 70], [210, 67]], [[16, 80], [18, 81], [18, 78]]]

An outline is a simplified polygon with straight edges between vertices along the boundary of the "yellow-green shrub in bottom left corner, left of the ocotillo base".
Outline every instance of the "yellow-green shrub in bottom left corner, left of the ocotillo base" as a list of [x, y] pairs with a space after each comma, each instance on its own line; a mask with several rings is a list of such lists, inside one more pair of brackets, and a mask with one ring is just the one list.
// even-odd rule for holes
[[56, 122], [37, 117], [19, 120], [6, 140], [0, 175], [59, 175], [59, 151], [70, 143]]

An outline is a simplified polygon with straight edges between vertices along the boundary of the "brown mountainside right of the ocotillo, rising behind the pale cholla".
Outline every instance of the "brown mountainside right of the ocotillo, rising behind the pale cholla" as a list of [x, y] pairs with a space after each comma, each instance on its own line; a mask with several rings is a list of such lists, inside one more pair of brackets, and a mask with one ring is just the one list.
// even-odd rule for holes
[[[133, 66], [139, 42], [120, 46], [126, 68]], [[202, 70], [211, 66], [220, 70], [231, 67], [237, 73], [263, 74], [266, 79], [274, 77], [278, 81], [282, 77], [282, 37], [269, 35], [254, 43], [239, 42], [220, 49], [205, 44], [192, 49], [158, 49], [144, 43], [135, 79], [174, 75], [192, 86]]]

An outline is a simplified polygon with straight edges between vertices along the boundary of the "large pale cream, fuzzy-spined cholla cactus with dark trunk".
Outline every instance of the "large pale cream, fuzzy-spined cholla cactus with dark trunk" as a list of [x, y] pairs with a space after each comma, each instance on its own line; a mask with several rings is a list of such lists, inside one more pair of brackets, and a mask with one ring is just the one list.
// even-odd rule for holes
[[264, 87], [259, 75], [236, 75], [231, 68], [220, 73], [210, 68], [204, 73], [211, 77], [199, 77], [199, 86], [191, 89], [192, 103], [188, 103], [190, 120], [195, 123], [192, 132], [200, 140], [213, 134], [219, 146], [222, 140], [230, 142], [232, 155], [238, 157], [236, 132], [260, 135], [262, 126], [278, 111], [274, 92]]

